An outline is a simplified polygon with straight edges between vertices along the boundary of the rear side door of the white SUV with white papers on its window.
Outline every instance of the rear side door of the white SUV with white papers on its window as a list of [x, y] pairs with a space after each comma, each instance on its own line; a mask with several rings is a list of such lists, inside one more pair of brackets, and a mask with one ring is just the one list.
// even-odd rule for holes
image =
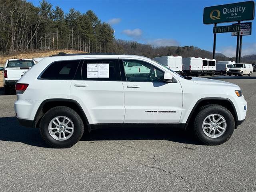
[[82, 60], [70, 99], [84, 109], [90, 124], [124, 122], [124, 88], [118, 59]]

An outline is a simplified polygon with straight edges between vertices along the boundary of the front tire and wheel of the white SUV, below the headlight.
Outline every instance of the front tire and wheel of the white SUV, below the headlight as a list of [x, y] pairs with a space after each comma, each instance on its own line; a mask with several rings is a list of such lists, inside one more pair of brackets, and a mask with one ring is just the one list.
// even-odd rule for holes
[[[203, 126], [204, 126], [203, 122], [207, 122], [208, 120], [206, 118], [211, 114], [216, 114], [214, 116], [215, 119], [222, 116], [222, 118], [226, 120], [226, 129], [223, 131], [222, 134], [220, 134], [217, 130], [214, 130], [214, 128], [212, 128], [212, 130], [203, 129]], [[220, 119], [218, 122], [221, 122], [221, 121], [222, 119]], [[212, 124], [212, 125], [205, 125], [205, 126], [214, 126], [214, 125]], [[222, 128], [225, 128], [224, 123], [220, 124], [220, 126], [222, 126]], [[196, 118], [194, 121], [194, 134], [202, 143], [206, 145], [220, 145], [226, 142], [232, 136], [234, 132], [234, 128], [235, 128], [235, 120], [232, 113], [224, 106], [217, 105], [217, 104], [210, 104], [200, 108], [200, 111], [196, 115]], [[220, 129], [220, 127], [218, 127], [217, 129], [222, 130]], [[207, 133], [207, 130], [208, 130], [208, 133]], [[209, 131], [210, 131], [210, 134], [212, 134], [210, 136], [209, 136]], [[213, 133], [217, 133], [219, 135], [216, 134], [215, 136], [217, 137], [213, 138]]]

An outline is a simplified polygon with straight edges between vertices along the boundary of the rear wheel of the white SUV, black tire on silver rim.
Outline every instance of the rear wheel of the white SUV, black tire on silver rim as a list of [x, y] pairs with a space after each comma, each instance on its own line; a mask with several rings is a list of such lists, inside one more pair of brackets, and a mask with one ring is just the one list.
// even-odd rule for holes
[[[56, 132], [56, 134], [53, 134], [53, 136], [56, 137], [54, 138], [53, 136], [51, 136], [50, 128], [49, 128], [50, 125], [51, 127], [53, 127], [54, 124], [53, 123], [50, 124], [50, 122], [52, 122], [52, 120], [56, 117], [58, 117], [58, 120], [60, 122], [63, 122], [62, 121], [63, 118], [61, 118], [62, 116], [66, 117], [66, 120], [64, 120], [63, 126], [60, 127], [60, 129], [62, 130], [60, 129], [57, 130], [57, 128], [56, 129], [52, 128], [52, 133]], [[70, 120], [70, 122], [68, 122], [67, 118]], [[55, 120], [55, 122], [57, 121]], [[64, 127], [65, 128], [73, 127], [73, 129], [71, 128], [63, 129]], [[74, 144], [76, 144], [84, 134], [84, 124], [81, 117], [77, 114], [76, 111], [66, 106], [58, 106], [58, 107], [51, 108], [50, 110], [48, 110], [48, 112], [46, 112], [46, 114], [44, 114], [40, 122], [39, 130], [43, 140], [53, 148], [70, 148]], [[60, 135], [63, 136], [63, 140], [57, 140], [59, 138], [58, 131], [64, 132], [64, 133], [60, 133]], [[68, 131], [71, 133], [69, 134]], [[67, 138], [66, 140], [64, 139], [64, 134]]]

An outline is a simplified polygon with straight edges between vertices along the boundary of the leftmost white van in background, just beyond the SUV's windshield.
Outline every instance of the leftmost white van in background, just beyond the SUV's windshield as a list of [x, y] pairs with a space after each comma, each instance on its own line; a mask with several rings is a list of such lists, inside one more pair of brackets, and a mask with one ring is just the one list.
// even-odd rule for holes
[[182, 56], [163, 56], [163, 57], [155, 57], [154, 61], [168, 67], [169, 69], [182, 73]]

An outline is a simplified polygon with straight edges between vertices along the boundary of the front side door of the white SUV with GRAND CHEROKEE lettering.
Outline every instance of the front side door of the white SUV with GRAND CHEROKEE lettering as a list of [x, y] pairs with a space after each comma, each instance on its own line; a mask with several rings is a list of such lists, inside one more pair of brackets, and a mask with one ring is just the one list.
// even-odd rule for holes
[[[125, 62], [137, 62], [148, 73], [129, 74]], [[124, 85], [124, 123], [178, 123], [182, 112], [182, 88], [177, 80], [164, 82], [164, 71], [141, 60], [120, 60]]]

